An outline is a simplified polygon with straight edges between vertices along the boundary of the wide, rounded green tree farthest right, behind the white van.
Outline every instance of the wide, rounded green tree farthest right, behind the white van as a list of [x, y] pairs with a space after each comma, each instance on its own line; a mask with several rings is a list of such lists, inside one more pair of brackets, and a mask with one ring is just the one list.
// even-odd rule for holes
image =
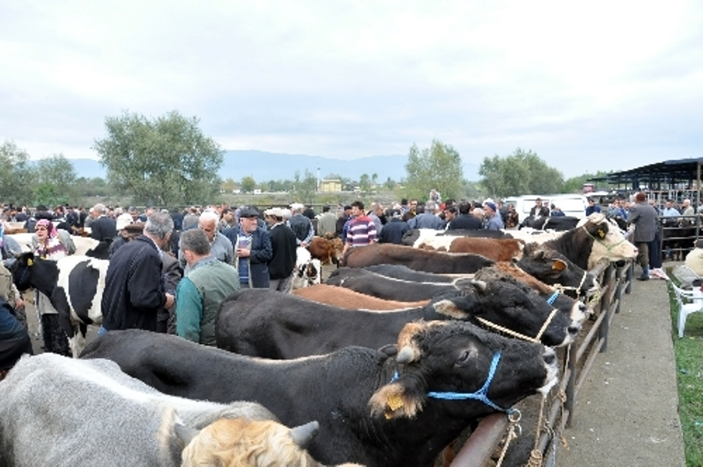
[[521, 148], [505, 158], [484, 158], [479, 174], [489, 196], [560, 193], [564, 184], [561, 172], [549, 167], [536, 153]]

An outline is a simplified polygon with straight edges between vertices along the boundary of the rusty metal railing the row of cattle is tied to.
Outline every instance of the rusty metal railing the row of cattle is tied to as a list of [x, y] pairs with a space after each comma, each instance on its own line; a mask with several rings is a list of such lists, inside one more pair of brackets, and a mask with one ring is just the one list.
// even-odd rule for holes
[[[483, 418], [453, 459], [452, 467], [484, 466], [496, 453], [500, 453], [498, 463], [509, 459], [505, 465], [555, 465], [556, 452], [564, 440], [565, 430], [573, 423], [579, 391], [595, 357], [607, 351], [611, 321], [620, 312], [623, 294], [631, 291], [633, 262], [620, 264], [603, 260], [591, 270], [600, 279], [600, 294], [589, 302], [593, 313], [584, 324], [581, 337], [560, 352], [560, 359], [564, 362], [562, 379], [545, 399], [543, 407], [523, 409], [522, 420], [515, 414], [492, 414]], [[531, 406], [534, 406], [534, 399]], [[522, 428], [518, 428], [520, 425]], [[529, 437], [533, 429], [536, 435]], [[521, 446], [516, 447], [518, 442], [514, 440], [520, 432], [523, 433]]]

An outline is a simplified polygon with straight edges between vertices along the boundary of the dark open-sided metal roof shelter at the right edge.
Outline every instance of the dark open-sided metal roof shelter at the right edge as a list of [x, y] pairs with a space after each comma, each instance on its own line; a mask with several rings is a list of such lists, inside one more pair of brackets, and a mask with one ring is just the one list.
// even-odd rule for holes
[[588, 181], [605, 181], [618, 191], [647, 190], [666, 193], [674, 199], [691, 198], [700, 205], [702, 166], [703, 158], [665, 160]]

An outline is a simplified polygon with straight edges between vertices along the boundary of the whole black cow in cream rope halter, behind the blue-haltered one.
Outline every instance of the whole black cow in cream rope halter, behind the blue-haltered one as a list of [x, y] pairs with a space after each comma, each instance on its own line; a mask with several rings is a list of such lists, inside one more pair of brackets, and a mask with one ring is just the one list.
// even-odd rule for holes
[[[546, 345], [572, 343], [581, 329], [580, 302], [560, 295], [555, 306], [528, 286], [473, 281], [433, 298], [425, 307], [378, 311], [343, 309], [272, 290], [240, 290], [219, 307], [217, 347], [271, 359], [332, 352], [346, 345], [380, 348], [417, 319], [460, 319]], [[556, 311], [555, 311], [556, 310]]]

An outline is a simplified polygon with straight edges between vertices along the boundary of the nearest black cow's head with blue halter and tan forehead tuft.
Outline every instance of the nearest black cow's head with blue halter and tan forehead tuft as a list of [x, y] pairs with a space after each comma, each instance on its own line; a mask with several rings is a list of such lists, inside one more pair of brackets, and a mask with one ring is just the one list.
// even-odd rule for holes
[[[454, 416], [472, 418], [509, 409], [535, 392], [546, 394], [557, 382], [554, 350], [461, 321], [407, 324], [398, 347], [401, 367], [369, 400], [373, 415], [414, 417], [429, 398], [437, 398], [433, 403], [445, 404]], [[486, 383], [486, 397], [494, 405], [475, 397]], [[441, 399], [450, 392], [466, 400]]]

